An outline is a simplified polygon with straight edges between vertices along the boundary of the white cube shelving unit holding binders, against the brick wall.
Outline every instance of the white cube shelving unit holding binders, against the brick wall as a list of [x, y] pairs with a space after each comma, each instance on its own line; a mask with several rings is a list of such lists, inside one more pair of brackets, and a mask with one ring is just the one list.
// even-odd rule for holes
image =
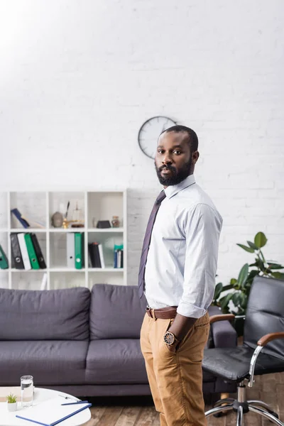
[[[55, 228], [51, 217], [57, 211], [65, 214], [70, 202], [67, 219], [72, 220], [76, 207], [80, 210], [83, 228], [74, 228], [72, 222], [67, 229]], [[23, 228], [11, 214], [17, 208], [33, 226], [33, 220], [43, 228]], [[85, 286], [92, 288], [95, 283], [127, 285], [127, 236], [126, 236], [126, 190], [124, 191], [82, 191], [82, 192], [0, 192], [0, 244], [9, 261], [8, 269], [0, 268], [0, 288], [39, 290], [43, 274], [47, 274], [46, 288], [67, 288]], [[119, 217], [118, 228], [98, 229], [99, 220]], [[12, 232], [34, 232], [45, 258], [46, 269], [19, 270], [11, 268]], [[67, 233], [84, 234], [84, 268], [67, 267]], [[102, 244], [105, 268], [91, 268], [88, 262], [88, 243]], [[124, 245], [124, 268], [114, 268], [114, 244]]]

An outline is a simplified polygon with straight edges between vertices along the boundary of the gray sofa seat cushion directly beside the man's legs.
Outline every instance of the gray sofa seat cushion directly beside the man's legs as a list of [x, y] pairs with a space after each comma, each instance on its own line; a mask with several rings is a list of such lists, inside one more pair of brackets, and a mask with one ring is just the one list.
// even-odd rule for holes
[[86, 383], [148, 383], [139, 339], [104, 339], [90, 342]]

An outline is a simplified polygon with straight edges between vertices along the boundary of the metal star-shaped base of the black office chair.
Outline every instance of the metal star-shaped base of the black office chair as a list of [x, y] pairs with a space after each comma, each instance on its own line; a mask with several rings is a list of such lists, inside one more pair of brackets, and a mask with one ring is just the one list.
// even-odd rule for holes
[[239, 383], [238, 399], [224, 398], [217, 401], [217, 403], [214, 404], [214, 408], [208, 410], [205, 416], [209, 417], [210, 415], [214, 415], [214, 417], [221, 417], [224, 411], [230, 410], [236, 413], [236, 426], [244, 425], [244, 415], [249, 413], [249, 411], [266, 417], [266, 419], [270, 420], [275, 425], [284, 426], [284, 423], [280, 422], [278, 414], [274, 413], [268, 404], [258, 400], [246, 400], [246, 386], [244, 382]]

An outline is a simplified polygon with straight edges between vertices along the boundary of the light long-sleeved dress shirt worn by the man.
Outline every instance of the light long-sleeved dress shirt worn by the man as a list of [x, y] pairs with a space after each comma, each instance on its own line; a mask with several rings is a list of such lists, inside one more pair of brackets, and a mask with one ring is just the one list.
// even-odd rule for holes
[[145, 270], [152, 309], [178, 306], [202, 317], [212, 302], [222, 217], [193, 175], [165, 188], [153, 226]]

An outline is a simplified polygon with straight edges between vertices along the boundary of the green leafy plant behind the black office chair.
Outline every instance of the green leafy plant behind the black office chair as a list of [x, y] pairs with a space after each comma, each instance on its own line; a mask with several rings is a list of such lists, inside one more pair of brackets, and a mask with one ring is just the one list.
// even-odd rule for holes
[[[284, 266], [275, 261], [266, 261], [266, 258], [263, 256], [261, 249], [266, 245], [267, 241], [263, 232], [258, 232], [253, 242], [247, 241], [247, 246], [237, 244], [241, 249], [249, 253], [254, 253], [256, 256], [255, 261], [251, 264], [246, 263], [241, 268], [238, 278], [231, 278], [228, 285], [218, 283], [215, 288], [212, 305], [221, 307], [222, 311], [226, 314], [232, 313], [236, 315], [235, 328], [239, 336], [244, 334], [244, 316], [246, 315], [246, 306], [253, 278], [259, 275], [284, 280], [284, 273], [279, 271], [284, 269]], [[233, 291], [223, 295], [228, 290]]]

